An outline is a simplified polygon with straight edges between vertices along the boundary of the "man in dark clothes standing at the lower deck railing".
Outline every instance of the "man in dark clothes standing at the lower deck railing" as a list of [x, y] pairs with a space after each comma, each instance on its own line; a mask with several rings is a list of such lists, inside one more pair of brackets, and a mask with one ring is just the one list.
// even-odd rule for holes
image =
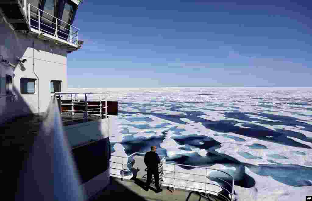
[[161, 189], [159, 186], [158, 164], [160, 163], [160, 158], [156, 153], [156, 146], [152, 146], [151, 151], [145, 154], [144, 163], [147, 166], [147, 181], [145, 190], [149, 190], [149, 185], [152, 181], [152, 175], [154, 175], [156, 192], [158, 193], [163, 191], [163, 189]]

